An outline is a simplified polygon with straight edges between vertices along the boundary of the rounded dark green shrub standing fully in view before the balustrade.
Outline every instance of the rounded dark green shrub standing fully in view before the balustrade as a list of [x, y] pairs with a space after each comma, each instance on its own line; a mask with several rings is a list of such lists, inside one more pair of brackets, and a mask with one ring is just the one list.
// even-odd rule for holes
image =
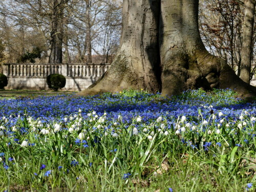
[[58, 89], [65, 87], [66, 78], [60, 74], [51, 74], [47, 76], [47, 84], [50, 89], [58, 91]]

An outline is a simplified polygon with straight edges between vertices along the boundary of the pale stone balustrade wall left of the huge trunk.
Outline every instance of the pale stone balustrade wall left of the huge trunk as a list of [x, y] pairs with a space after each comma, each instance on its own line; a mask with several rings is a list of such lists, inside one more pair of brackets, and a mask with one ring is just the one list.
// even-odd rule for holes
[[63, 91], [81, 91], [88, 88], [105, 73], [110, 64], [4, 64], [4, 74], [8, 78], [8, 89], [49, 90], [46, 78], [50, 74], [66, 77]]

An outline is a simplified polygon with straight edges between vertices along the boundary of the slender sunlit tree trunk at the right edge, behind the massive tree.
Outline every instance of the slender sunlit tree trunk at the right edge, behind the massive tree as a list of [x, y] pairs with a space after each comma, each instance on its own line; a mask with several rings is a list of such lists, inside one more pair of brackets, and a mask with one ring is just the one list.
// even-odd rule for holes
[[255, 0], [245, 0], [245, 14], [243, 22], [243, 42], [242, 42], [242, 60], [241, 60], [241, 79], [247, 83], [250, 83], [250, 71], [251, 71], [251, 56], [253, 52], [253, 24], [254, 24], [254, 10]]

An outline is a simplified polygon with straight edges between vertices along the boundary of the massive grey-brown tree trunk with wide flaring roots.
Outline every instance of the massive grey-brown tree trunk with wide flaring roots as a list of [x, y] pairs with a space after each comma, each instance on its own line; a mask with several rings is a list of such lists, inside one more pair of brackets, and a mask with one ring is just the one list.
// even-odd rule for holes
[[80, 94], [146, 89], [177, 95], [197, 88], [256, 93], [205, 49], [198, 6], [199, 0], [124, 0], [120, 51], [103, 77]]

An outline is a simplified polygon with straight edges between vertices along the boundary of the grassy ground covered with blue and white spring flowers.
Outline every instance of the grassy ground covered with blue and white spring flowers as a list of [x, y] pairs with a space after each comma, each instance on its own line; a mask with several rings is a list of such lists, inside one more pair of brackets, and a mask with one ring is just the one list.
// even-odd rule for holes
[[6, 96], [0, 191], [255, 191], [255, 118], [230, 90]]

